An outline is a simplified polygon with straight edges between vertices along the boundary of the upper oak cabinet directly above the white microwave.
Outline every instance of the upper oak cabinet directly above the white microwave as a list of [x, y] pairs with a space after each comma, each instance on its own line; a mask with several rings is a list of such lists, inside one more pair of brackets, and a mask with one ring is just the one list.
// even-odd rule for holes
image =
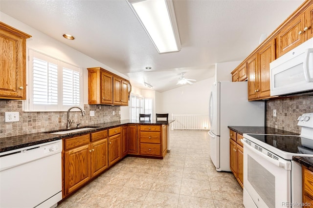
[[277, 58], [313, 37], [312, 5], [308, 0], [305, 6], [299, 7], [299, 12], [294, 13], [294, 18], [283, 25], [277, 35]]

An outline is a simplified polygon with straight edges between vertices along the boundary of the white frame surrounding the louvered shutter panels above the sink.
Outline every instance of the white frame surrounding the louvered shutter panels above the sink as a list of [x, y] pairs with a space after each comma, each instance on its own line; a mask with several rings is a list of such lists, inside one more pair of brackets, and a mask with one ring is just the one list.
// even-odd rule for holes
[[[23, 101], [23, 111], [25, 112], [58, 112], [67, 111], [71, 106], [84, 108], [83, 98], [83, 69], [47, 54], [28, 48], [28, 68], [26, 69], [26, 100]], [[34, 104], [33, 102], [33, 59], [41, 59], [58, 65], [58, 103], [57, 104]], [[79, 104], [63, 104], [63, 68], [77, 71], [79, 73]]]

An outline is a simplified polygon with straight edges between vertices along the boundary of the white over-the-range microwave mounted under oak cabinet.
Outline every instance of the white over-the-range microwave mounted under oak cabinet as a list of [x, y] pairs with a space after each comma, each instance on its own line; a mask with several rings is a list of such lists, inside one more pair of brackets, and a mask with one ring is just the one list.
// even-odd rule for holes
[[313, 38], [269, 63], [270, 95], [313, 90]]

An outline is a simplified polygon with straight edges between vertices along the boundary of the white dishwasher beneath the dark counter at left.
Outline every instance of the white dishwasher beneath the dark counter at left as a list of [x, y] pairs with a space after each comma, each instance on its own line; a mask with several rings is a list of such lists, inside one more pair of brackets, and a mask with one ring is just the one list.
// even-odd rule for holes
[[62, 140], [0, 153], [0, 208], [51, 208], [62, 199]]

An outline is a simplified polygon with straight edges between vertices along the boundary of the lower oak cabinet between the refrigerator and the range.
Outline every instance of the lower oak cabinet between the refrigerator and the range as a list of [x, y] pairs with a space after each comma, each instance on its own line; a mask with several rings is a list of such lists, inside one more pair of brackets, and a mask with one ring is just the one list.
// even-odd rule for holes
[[240, 139], [242, 135], [230, 130], [229, 134], [229, 155], [230, 155], [230, 170], [237, 179], [239, 185], [244, 187], [244, 148]]

